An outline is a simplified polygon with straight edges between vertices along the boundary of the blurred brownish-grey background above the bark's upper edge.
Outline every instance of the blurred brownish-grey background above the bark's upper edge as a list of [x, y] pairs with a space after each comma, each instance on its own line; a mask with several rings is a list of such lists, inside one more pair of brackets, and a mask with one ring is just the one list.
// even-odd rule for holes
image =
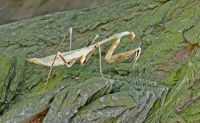
[[0, 0], [0, 24], [47, 13], [92, 8], [117, 0]]

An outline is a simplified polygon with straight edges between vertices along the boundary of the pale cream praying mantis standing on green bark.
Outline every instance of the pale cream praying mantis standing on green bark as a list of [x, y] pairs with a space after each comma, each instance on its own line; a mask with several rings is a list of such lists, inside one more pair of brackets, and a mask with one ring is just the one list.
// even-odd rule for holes
[[[87, 47], [77, 49], [77, 50], [71, 50], [72, 28], [70, 28], [70, 51], [61, 53], [58, 50], [57, 53], [54, 55], [46, 56], [43, 58], [28, 58], [27, 60], [34, 64], [39, 64], [39, 65], [50, 67], [48, 77], [46, 80], [46, 84], [45, 84], [45, 86], [46, 86], [54, 66], [66, 65], [68, 68], [70, 68], [71, 66], [74, 65], [74, 63], [78, 59], [80, 59], [81, 64], [84, 64], [88, 61], [88, 59], [90, 58], [92, 53], [95, 51], [95, 49], [99, 48], [100, 74], [101, 74], [102, 78], [104, 78], [103, 72], [102, 72], [102, 67], [101, 67], [101, 45], [112, 41], [112, 46], [110, 47], [110, 49], [108, 50], [108, 52], [106, 53], [106, 56], [105, 56], [105, 61], [107, 63], [125, 60], [125, 59], [132, 57], [133, 55], [135, 56], [134, 61], [136, 62], [140, 56], [140, 53], [141, 53], [140, 47], [130, 50], [130, 51], [127, 51], [127, 52], [113, 55], [114, 50], [117, 48], [117, 46], [119, 45], [119, 43], [121, 41], [121, 38], [124, 36], [127, 36], [130, 40], [133, 40], [135, 38], [135, 34], [133, 32], [126, 31], [126, 32], [114, 34], [102, 41], [99, 41], [95, 44], [91, 44]], [[98, 35], [95, 37], [95, 39], [97, 37], [98, 37]], [[92, 42], [94, 42], [94, 40]]]

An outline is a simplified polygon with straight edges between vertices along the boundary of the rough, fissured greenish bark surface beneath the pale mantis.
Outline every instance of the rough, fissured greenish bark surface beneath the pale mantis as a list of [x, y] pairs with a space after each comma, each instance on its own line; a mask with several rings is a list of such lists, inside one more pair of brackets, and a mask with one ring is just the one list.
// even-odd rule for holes
[[[199, 0], [121, 0], [1, 26], [0, 122], [200, 122], [199, 6]], [[141, 46], [142, 55], [135, 65], [103, 62], [103, 80], [96, 51], [84, 66], [55, 68], [45, 89], [49, 69], [25, 58], [55, 54], [70, 27], [73, 49], [97, 33], [100, 40], [134, 31], [135, 41], [124, 38], [117, 52]]]

